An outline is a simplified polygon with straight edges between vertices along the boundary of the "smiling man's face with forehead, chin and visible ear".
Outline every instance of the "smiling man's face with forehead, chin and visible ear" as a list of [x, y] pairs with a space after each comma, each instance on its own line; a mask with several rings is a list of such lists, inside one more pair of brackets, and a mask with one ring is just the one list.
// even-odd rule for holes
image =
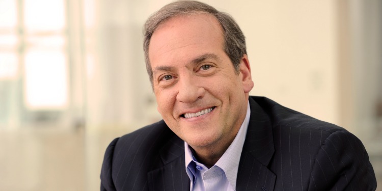
[[158, 111], [194, 149], [230, 144], [253, 87], [246, 55], [237, 74], [211, 15], [176, 16], [153, 33], [149, 58]]

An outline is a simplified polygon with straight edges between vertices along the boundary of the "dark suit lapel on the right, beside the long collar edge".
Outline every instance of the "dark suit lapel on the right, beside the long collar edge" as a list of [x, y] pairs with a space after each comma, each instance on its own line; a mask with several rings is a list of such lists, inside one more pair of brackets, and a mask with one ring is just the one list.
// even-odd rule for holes
[[251, 117], [241, 152], [236, 190], [274, 190], [276, 175], [268, 168], [275, 147], [268, 115], [250, 97]]

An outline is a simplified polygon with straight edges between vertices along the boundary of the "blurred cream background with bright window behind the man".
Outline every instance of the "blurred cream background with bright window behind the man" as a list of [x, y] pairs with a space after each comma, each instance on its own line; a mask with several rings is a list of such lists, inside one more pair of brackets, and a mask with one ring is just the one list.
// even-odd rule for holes
[[[99, 190], [108, 143], [160, 120], [142, 29], [170, 2], [0, 0], [0, 190]], [[356, 134], [380, 185], [382, 1], [203, 2], [247, 37], [251, 95]]]

